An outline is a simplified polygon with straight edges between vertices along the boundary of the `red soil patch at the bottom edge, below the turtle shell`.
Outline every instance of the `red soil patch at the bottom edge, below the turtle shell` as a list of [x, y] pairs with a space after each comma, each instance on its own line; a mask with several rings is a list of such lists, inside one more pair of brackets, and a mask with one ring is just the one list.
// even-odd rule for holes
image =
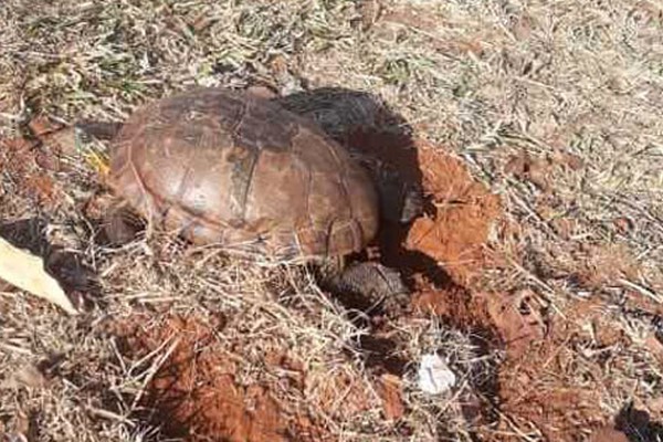
[[141, 418], [164, 435], [191, 442], [324, 440], [306, 415], [286, 412], [269, 386], [241, 386], [236, 360], [214, 345], [214, 329], [202, 318], [171, 316], [145, 329], [137, 317], [115, 328], [136, 360], [173, 343], [164, 346], [161, 354], [170, 354], [141, 398], [148, 410]]

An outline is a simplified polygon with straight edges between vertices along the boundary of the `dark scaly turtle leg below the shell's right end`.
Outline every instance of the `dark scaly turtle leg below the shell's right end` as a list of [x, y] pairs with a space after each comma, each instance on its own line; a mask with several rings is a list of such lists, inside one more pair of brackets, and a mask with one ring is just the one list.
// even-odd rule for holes
[[399, 312], [410, 297], [400, 273], [376, 262], [349, 264], [327, 277], [325, 285], [345, 307], [369, 316]]

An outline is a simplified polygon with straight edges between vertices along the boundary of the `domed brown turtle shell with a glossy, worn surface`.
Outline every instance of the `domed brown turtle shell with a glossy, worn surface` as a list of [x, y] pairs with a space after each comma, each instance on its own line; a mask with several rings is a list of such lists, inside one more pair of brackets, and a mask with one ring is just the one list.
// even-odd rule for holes
[[198, 88], [137, 109], [109, 182], [196, 244], [277, 259], [360, 251], [378, 229], [368, 172], [314, 123], [250, 93]]

